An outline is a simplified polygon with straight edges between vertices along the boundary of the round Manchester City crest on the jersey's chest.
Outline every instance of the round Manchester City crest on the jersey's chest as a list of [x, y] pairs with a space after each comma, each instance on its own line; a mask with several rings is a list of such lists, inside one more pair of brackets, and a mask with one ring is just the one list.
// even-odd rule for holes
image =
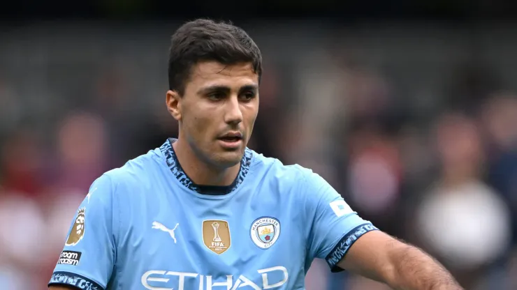
[[249, 234], [257, 247], [268, 249], [280, 236], [280, 222], [275, 217], [260, 217], [253, 222]]

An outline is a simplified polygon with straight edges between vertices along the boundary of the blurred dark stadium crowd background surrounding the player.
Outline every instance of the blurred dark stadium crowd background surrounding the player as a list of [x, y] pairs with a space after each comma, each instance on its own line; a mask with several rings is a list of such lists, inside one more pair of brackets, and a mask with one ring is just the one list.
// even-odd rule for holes
[[[261, 47], [251, 148], [312, 168], [466, 289], [517, 289], [516, 3], [3, 3], [0, 289], [47, 289], [90, 183], [177, 136], [167, 50], [196, 17]], [[387, 289], [326, 267], [308, 290]]]

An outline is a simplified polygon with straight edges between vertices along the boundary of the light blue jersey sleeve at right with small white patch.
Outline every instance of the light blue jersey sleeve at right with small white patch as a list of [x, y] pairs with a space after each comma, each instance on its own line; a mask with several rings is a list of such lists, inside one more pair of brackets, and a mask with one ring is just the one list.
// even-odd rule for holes
[[325, 259], [332, 272], [340, 272], [337, 263], [351, 245], [368, 231], [377, 230], [363, 220], [321, 176], [310, 172], [303, 188], [310, 224], [308, 245], [311, 257]]

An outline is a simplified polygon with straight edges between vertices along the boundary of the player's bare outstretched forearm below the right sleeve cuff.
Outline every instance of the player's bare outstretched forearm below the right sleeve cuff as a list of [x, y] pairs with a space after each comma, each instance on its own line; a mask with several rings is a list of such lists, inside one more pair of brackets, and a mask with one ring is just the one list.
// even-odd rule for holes
[[337, 264], [400, 290], [463, 290], [428, 254], [381, 231], [358, 238]]

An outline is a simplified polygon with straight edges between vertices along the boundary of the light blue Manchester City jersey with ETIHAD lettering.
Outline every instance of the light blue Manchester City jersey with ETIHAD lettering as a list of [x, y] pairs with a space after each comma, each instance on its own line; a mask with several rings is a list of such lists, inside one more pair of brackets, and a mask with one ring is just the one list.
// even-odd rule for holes
[[106, 172], [78, 208], [50, 285], [99, 290], [305, 289], [376, 228], [309, 169], [247, 149], [229, 187], [193, 183], [174, 139]]

